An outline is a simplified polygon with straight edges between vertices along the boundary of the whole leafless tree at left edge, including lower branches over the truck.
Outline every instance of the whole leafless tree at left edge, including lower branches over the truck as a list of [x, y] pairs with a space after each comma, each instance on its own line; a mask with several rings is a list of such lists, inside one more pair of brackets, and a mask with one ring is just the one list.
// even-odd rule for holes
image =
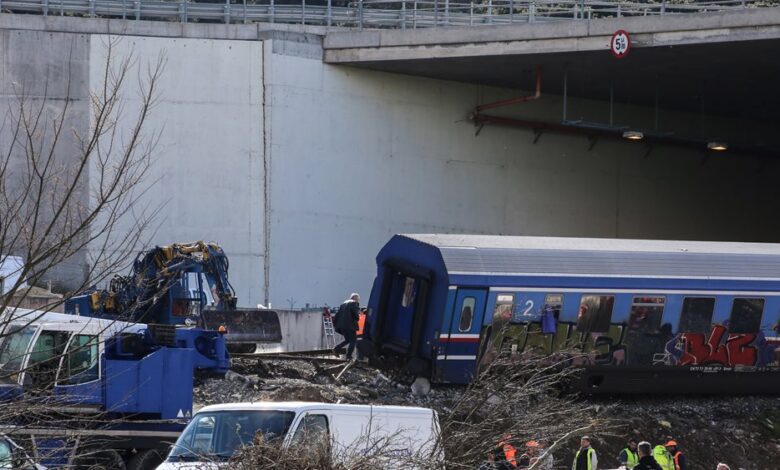
[[[148, 63], [132, 53], [117, 57], [119, 40], [105, 41], [97, 83], [94, 75], [92, 83], [77, 82], [74, 61], [63, 57], [61, 82], [13, 83], [13, 97], [0, 102], [0, 266], [6, 276], [0, 283], [0, 383], [22, 385], [22, 376], [36, 375], [23, 384], [24, 397], [0, 406], [5, 431], [44, 420], [90, 426], [101, 418], [94, 410], [74, 420], [51, 397], [64, 344], [36, 343], [33, 357], [19, 347], [16, 333], [59, 310], [69, 296], [124, 271], [161, 207], [141, 201], [154, 184], [151, 156], [160, 131], [147, 129], [147, 121], [164, 57]], [[62, 296], [22, 309], [31, 295], [26, 285], [47, 280]]]

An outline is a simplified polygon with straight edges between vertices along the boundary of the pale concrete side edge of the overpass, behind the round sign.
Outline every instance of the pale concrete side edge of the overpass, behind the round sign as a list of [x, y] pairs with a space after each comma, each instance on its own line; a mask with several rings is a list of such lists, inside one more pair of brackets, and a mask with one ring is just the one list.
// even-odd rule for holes
[[780, 8], [678, 16], [512, 24], [491, 28], [436, 28], [330, 32], [328, 63], [606, 51], [616, 30], [632, 48], [674, 47], [780, 38]]

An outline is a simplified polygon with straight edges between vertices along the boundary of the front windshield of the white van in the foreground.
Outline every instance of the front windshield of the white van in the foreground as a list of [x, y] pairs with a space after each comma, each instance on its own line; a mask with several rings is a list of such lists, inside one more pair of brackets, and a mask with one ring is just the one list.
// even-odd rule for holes
[[228, 459], [255, 436], [264, 442], [282, 438], [292, 424], [291, 411], [215, 411], [198, 413], [174, 444], [169, 462]]

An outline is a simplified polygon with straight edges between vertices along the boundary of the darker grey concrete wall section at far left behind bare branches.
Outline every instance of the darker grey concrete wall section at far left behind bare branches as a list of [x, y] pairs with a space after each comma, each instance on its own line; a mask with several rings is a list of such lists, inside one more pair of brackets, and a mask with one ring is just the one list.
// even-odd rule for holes
[[[62, 178], [58, 178], [70, 170], [70, 155], [76, 153], [76, 143], [69, 138], [52, 138], [54, 120], [64, 117], [63, 128], [68, 136], [72, 133], [84, 135], [89, 127], [89, 36], [84, 34], [66, 34], [36, 30], [0, 30], [0, 163], [4, 167], [3, 192], [13, 198], [30, 187], [27, 178], [29, 159], [27, 155], [36, 155], [36, 160], [44, 161], [52, 145], [53, 163], [44, 184], [45, 188], [62, 189]], [[65, 103], [67, 113], [63, 112]], [[24, 109], [29, 123], [28, 130], [34, 135], [35, 145], [28, 146], [25, 139], [24, 126], [20, 124], [20, 111]], [[39, 114], [40, 113], [40, 114]], [[36, 120], [33, 117], [37, 116]], [[14, 140], [14, 136], [16, 140]], [[13, 143], [13, 144], [12, 144]], [[32, 148], [33, 153], [28, 153]], [[8, 167], [5, 163], [9, 162]], [[8, 191], [8, 192], [5, 192]], [[56, 192], [56, 190], [55, 190]], [[76, 194], [77, 203], [83, 203], [85, 192]], [[48, 197], [44, 201], [50, 202]], [[30, 201], [30, 198], [28, 198]], [[9, 223], [19, 221], [29, 223], [33, 220], [32, 206], [17, 213], [11, 219], [4, 213], [5, 205], [0, 205], [0, 224], [5, 230]], [[37, 233], [43, 231], [40, 227], [50, 220], [53, 204], [40, 207]], [[7, 210], [7, 209], [5, 209]], [[12, 228], [3, 236], [5, 253], [2, 255], [24, 255], [26, 250], [22, 243], [9, 246], [12, 236], [19, 233], [19, 228]], [[24, 232], [29, 233], [29, 232]], [[51, 270], [55, 287], [60, 287], [64, 280], [79, 278], [84, 273], [84, 256], [74, 256]], [[39, 265], [40, 266], [40, 265]]]

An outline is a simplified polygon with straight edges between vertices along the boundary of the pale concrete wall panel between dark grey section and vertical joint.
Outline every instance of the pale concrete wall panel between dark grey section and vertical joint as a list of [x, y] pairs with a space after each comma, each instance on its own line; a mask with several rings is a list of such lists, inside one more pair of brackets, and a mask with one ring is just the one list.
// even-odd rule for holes
[[[116, 37], [114, 37], [116, 40]], [[158, 58], [164, 70], [145, 123], [152, 152], [148, 191], [139, 211], [160, 209], [142, 245], [216, 241], [230, 259], [230, 279], [243, 305], [263, 300], [262, 42], [92, 35], [92, 87], [102, 83], [107, 51], [132, 57], [123, 103], [127, 129]], [[121, 139], [120, 139], [121, 140]], [[131, 217], [125, 224], [133, 224]]]

